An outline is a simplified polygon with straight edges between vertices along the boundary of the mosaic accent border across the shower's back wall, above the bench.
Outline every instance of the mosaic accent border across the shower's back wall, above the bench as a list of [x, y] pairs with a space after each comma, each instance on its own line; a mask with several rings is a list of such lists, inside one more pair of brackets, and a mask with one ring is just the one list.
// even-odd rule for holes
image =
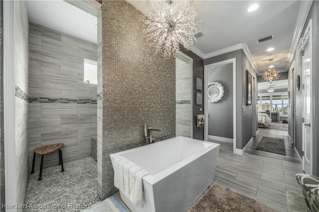
[[45, 98], [31, 97], [29, 103], [75, 103], [75, 104], [97, 104], [97, 100], [82, 100], [82, 99], [66, 99], [66, 98]]

